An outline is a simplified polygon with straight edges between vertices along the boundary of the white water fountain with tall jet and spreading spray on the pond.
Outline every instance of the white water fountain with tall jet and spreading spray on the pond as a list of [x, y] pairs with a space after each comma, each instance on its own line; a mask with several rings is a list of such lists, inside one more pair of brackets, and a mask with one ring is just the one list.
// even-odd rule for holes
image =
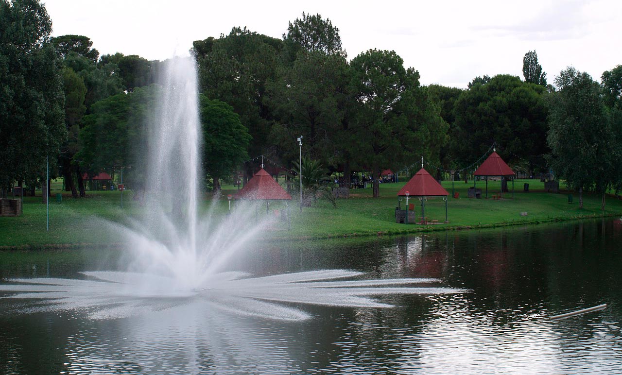
[[[91, 318], [118, 318], [201, 300], [228, 312], [304, 320], [292, 303], [386, 308], [388, 294], [448, 294], [463, 290], [412, 287], [434, 279], [364, 279], [361, 272], [320, 270], [252, 277], [226, 269], [228, 261], [264, 229], [244, 212], [215, 220], [198, 213], [200, 121], [197, 73], [191, 58], [174, 58], [162, 77], [157, 121], [149, 127], [147, 194], [142, 220], [113, 225], [129, 244], [123, 271], [82, 272], [85, 279], [12, 279], [6, 298], [39, 299], [21, 311], [87, 308]], [[183, 186], [179, 181], [183, 180]], [[343, 280], [348, 279], [348, 280]]]

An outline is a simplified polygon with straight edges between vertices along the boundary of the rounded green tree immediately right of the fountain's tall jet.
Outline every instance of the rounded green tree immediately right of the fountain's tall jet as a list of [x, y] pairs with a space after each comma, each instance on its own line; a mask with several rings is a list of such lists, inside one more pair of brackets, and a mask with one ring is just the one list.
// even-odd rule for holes
[[213, 178], [213, 189], [220, 191], [220, 178], [233, 174], [244, 160], [251, 141], [248, 129], [239, 121], [233, 107], [220, 100], [199, 95], [203, 129], [203, 171]]

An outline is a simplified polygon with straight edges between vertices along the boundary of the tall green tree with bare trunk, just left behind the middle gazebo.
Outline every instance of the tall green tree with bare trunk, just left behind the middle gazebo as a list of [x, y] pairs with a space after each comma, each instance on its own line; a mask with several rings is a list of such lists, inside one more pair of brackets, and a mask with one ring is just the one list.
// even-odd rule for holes
[[372, 170], [373, 196], [379, 197], [381, 168], [404, 165], [421, 155], [439, 161], [447, 124], [419, 87], [419, 72], [404, 68], [394, 51], [368, 50], [350, 65], [356, 117], [348, 143], [361, 155], [360, 164]]

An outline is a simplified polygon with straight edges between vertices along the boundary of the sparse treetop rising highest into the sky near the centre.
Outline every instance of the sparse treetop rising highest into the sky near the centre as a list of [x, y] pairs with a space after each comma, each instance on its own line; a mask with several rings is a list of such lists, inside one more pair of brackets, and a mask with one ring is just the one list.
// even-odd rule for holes
[[293, 24], [289, 22], [283, 40], [290, 57], [295, 57], [300, 50], [346, 57], [345, 50], [341, 48], [339, 29], [333, 26], [330, 19], [322, 19], [320, 14], [312, 16], [303, 12], [302, 19], [295, 19]]

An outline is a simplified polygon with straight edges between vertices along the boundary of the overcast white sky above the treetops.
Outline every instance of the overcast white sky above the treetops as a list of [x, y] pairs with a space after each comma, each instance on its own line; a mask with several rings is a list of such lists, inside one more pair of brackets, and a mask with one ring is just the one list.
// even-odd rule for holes
[[569, 65], [600, 75], [622, 64], [622, 1], [192, 1], [42, 0], [53, 36], [90, 37], [101, 54], [149, 60], [187, 55], [194, 40], [232, 27], [281, 38], [302, 12], [339, 28], [348, 59], [395, 50], [424, 85], [465, 88], [478, 75], [522, 78], [522, 57], [536, 50], [549, 83]]

